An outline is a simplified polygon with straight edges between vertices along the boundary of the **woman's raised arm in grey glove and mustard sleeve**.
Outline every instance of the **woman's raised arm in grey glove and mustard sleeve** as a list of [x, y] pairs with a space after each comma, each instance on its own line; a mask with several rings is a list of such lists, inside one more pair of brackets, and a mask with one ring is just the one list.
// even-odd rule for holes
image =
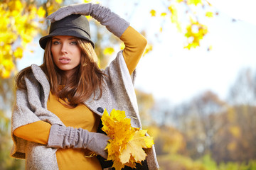
[[92, 16], [103, 26], [106, 26], [107, 30], [110, 30], [111, 33], [120, 38], [125, 45], [123, 52], [124, 60], [129, 73], [132, 74], [146, 47], [146, 39], [142, 34], [130, 27], [127, 21], [119, 17], [116, 13], [113, 13], [110, 8], [101, 6], [100, 4], [87, 3], [65, 6], [47, 18], [51, 22], [55, 22], [71, 14]]

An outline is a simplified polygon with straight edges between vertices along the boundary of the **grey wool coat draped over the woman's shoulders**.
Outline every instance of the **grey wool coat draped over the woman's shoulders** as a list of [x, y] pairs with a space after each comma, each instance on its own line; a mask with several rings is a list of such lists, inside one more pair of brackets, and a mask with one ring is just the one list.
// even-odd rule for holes
[[[33, 74], [28, 75], [25, 79], [27, 89], [16, 91], [16, 104], [11, 117], [11, 136], [14, 141], [11, 157], [26, 159], [26, 169], [55, 170], [58, 169], [55, 155], [57, 149], [29, 142], [14, 135], [16, 128], [38, 120], [52, 125], [63, 125], [54, 113], [47, 110], [50, 84], [46, 75], [36, 64], [32, 64], [31, 68]], [[102, 97], [97, 101], [90, 98], [85, 101], [85, 105], [100, 116], [102, 111], [99, 110], [102, 109], [98, 108], [107, 109], [108, 113], [112, 109], [125, 111], [127, 118], [131, 118], [132, 126], [142, 128], [132, 77], [124, 62], [122, 51], [117, 54], [117, 57], [104, 72], [108, 79], [105, 79], [106, 86], [103, 88]], [[146, 149], [146, 154], [149, 170], [159, 169], [154, 146], [151, 149]]]

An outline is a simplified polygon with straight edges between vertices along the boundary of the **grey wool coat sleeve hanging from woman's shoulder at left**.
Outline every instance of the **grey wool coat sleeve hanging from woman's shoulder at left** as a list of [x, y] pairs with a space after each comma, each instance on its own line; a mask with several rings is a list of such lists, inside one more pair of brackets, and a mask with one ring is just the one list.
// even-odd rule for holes
[[42, 95], [42, 86], [33, 74], [25, 78], [25, 84], [26, 89], [16, 90], [16, 103], [11, 115], [11, 137], [14, 142], [11, 156], [16, 158], [25, 157], [28, 141], [14, 135], [14, 130], [40, 120], [63, 125], [56, 115], [43, 107], [42, 100], [45, 96]]

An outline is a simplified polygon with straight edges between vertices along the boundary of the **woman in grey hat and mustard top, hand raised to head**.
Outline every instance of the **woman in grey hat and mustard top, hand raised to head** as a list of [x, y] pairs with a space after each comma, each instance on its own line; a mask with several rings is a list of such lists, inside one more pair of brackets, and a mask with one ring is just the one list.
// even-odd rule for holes
[[[92, 16], [124, 42], [109, 67], [97, 67], [90, 38]], [[43, 64], [16, 77], [12, 114], [12, 157], [26, 159], [26, 169], [102, 169], [109, 137], [97, 132], [104, 109], [125, 111], [142, 128], [132, 84], [146, 40], [127, 21], [99, 4], [76, 4], [48, 16], [49, 35], [39, 40]], [[154, 147], [146, 149], [138, 169], [158, 169]], [[139, 166], [138, 166], [139, 167]]]

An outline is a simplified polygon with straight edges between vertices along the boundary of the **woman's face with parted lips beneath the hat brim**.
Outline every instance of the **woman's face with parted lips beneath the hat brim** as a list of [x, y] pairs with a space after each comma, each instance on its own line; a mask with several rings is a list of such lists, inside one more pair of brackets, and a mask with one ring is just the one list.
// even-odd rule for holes
[[65, 76], [70, 77], [75, 72], [75, 67], [80, 64], [81, 50], [78, 46], [78, 38], [68, 35], [53, 36], [51, 40], [51, 52], [53, 62], [65, 71]]

